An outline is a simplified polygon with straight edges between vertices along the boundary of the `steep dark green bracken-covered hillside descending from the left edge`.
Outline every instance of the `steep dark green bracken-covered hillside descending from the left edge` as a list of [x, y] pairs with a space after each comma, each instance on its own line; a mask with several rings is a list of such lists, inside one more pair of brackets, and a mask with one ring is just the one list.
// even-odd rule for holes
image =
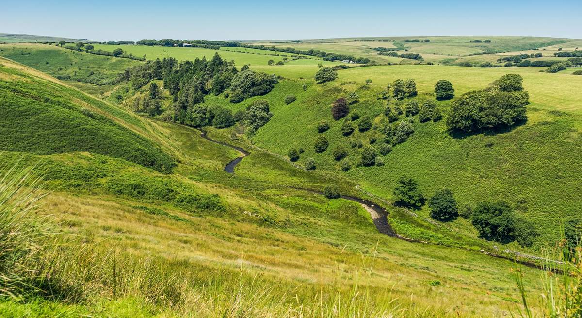
[[34, 154], [89, 151], [170, 172], [173, 159], [150, 141], [101, 114], [104, 103], [0, 59], [0, 149]]

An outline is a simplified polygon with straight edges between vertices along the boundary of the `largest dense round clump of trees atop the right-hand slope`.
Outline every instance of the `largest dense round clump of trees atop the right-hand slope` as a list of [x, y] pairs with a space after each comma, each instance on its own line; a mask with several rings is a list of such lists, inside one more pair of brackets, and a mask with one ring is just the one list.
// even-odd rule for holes
[[503, 75], [485, 90], [463, 94], [452, 104], [446, 121], [449, 129], [474, 132], [526, 120], [529, 94], [522, 82], [521, 75]]

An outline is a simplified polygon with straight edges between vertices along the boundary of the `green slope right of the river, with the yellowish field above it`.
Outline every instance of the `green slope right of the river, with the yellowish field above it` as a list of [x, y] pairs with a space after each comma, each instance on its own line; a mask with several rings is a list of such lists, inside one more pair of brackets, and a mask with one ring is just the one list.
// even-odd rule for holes
[[[474, 135], [463, 138], [449, 136], [444, 122], [416, 123], [416, 132], [410, 140], [396, 146], [384, 158], [384, 167], [354, 168], [347, 172], [349, 178], [361, 182], [365, 188], [390, 199], [396, 179], [407, 174], [420, 181], [424, 193], [430, 195], [446, 186], [456, 193], [462, 203], [475, 204], [481, 200], [505, 199], [516, 204], [532, 218], [541, 229], [538, 243], [550, 242], [558, 235], [563, 220], [576, 217], [580, 199], [580, 172], [577, 160], [580, 148], [579, 93], [582, 79], [568, 74], [540, 73], [535, 69], [479, 69], [454, 66], [402, 65], [355, 68], [339, 72], [339, 79], [324, 85], [311, 84], [301, 90], [306, 80], [288, 80], [277, 84], [264, 97], [254, 97], [242, 104], [232, 105], [222, 98], [208, 98], [208, 104], [222, 103], [232, 109], [244, 107], [256, 98], [265, 98], [274, 116], [254, 137], [258, 146], [286, 155], [290, 147], [303, 147], [299, 164], [308, 157], [315, 158], [318, 169], [339, 171], [338, 162], [331, 157], [331, 150], [343, 145], [350, 149], [349, 140], [360, 139], [364, 144], [370, 137], [381, 140], [381, 132], [370, 130], [343, 137], [342, 121], [331, 118], [329, 107], [335, 98], [357, 91], [361, 101], [353, 105], [360, 115], [378, 116], [381, 126], [384, 102], [375, 99], [385, 84], [398, 78], [414, 78], [421, 92], [430, 93], [439, 79], [453, 83], [459, 96], [469, 90], [486, 87], [499, 76], [520, 73], [524, 87], [530, 93], [529, 120], [510, 132], [498, 135]], [[373, 84], [361, 89], [364, 80]], [[285, 105], [287, 94], [296, 94], [297, 101]], [[423, 95], [423, 98], [434, 98]], [[439, 103], [443, 109], [448, 102]], [[316, 154], [313, 149], [317, 123], [322, 119], [331, 124], [324, 135], [330, 142], [325, 153]], [[359, 151], [350, 149], [349, 160], [357, 162]], [[344, 172], [340, 172], [345, 174]], [[556, 182], [556, 178], [560, 182]], [[421, 215], [427, 215], [421, 211]], [[458, 220], [453, 227], [475, 237], [469, 222]]]

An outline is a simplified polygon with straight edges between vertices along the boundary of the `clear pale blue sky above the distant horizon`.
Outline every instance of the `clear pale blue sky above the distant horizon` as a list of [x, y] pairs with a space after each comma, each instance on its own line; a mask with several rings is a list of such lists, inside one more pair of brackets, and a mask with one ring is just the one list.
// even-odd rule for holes
[[379, 36], [582, 38], [582, 0], [5, 1], [0, 33], [90, 40]]

